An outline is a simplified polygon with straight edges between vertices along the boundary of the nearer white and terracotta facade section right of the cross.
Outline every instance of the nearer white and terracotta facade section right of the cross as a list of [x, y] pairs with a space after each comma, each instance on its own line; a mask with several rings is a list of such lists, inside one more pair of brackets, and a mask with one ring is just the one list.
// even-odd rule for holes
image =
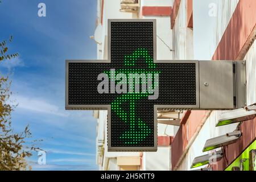
[[[246, 60], [246, 103], [256, 102], [255, 96], [255, 1], [175, 1], [177, 13], [173, 16], [173, 34], [184, 37], [184, 45], [193, 49], [193, 55], [187, 54], [189, 47], [181, 48], [174, 59], [196, 60]], [[187, 21], [185, 12], [187, 11]], [[203, 14], [203, 15], [202, 15]], [[191, 18], [193, 18], [191, 20]], [[192, 23], [191, 23], [192, 22]], [[185, 35], [182, 31], [185, 28]], [[190, 30], [188, 30], [190, 29]], [[192, 31], [192, 32], [191, 32]], [[180, 33], [182, 32], [182, 34]], [[173, 38], [175, 38], [173, 36]], [[187, 37], [190, 38], [187, 38]], [[193, 36], [191, 38], [191, 36]], [[175, 42], [175, 39], [172, 40]], [[174, 44], [175, 46], [175, 44]], [[174, 49], [180, 50], [180, 46]], [[214, 75], [213, 75], [214, 76]], [[186, 111], [181, 126], [171, 145], [172, 170], [190, 170], [193, 159], [204, 155], [202, 152], [207, 139], [225, 135], [238, 128], [242, 136], [236, 143], [222, 147], [224, 157], [209, 167], [213, 170], [230, 169], [228, 166], [236, 160], [255, 140], [255, 119], [216, 127], [221, 114], [230, 111]], [[255, 149], [255, 148], [254, 148]], [[246, 159], [247, 160], [247, 159]], [[249, 165], [248, 160], [246, 165]]]

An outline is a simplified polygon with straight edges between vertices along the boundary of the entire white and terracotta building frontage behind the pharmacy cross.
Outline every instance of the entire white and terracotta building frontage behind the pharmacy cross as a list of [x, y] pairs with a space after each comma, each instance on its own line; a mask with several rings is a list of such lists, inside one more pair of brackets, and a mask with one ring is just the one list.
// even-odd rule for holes
[[[246, 60], [246, 103], [256, 103], [255, 0], [98, 0], [96, 31], [98, 59], [108, 57], [108, 19], [156, 19], [158, 60]], [[214, 76], [214, 75], [213, 75]], [[230, 111], [158, 111], [157, 152], [108, 152], [107, 111], [97, 118], [97, 164], [102, 170], [191, 170], [193, 159], [207, 139], [239, 126], [242, 136], [222, 147], [224, 157], [202, 167], [229, 170], [242, 162], [246, 148], [254, 148], [256, 119], [216, 127]], [[163, 122], [164, 119], [171, 122]], [[248, 150], [249, 151], [249, 150]], [[248, 160], [242, 162], [248, 166]], [[198, 168], [195, 168], [198, 169]], [[249, 169], [245, 167], [243, 169]]]

